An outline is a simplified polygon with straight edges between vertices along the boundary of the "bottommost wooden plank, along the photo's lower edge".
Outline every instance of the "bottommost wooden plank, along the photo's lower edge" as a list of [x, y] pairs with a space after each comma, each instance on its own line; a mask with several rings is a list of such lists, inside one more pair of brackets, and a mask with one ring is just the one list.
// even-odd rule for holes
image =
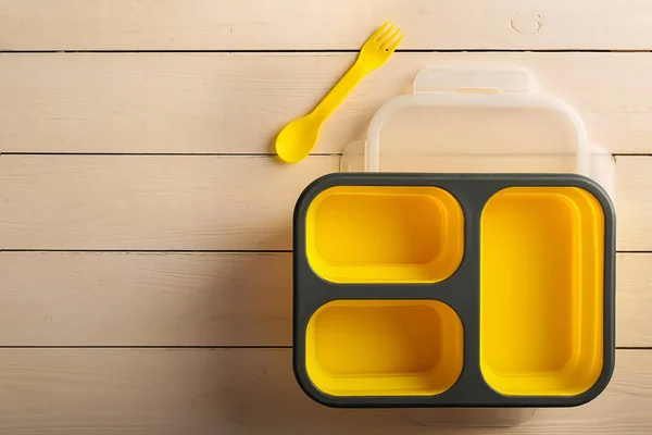
[[[1, 349], [0, 432], [21, 434], [460, 434], [405, 410], [330, 409], [298, 387], [290, 349]], [[652, 352], [617, 351], [592, 402], [482, 434], [649, 434]], [[434, 411], [435, 412], [435, 411]], [[450, 410], [442, 410], [450, 414]]]

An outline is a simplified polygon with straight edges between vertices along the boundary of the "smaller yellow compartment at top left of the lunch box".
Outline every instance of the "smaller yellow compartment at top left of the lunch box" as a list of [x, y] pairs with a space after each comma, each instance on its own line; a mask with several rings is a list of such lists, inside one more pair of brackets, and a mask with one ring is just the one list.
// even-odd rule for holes
[[305, 226], [308, 261], [334, 283], [436, 283], [464, 252], [462, 208], [437, 187], [331, 187]]

